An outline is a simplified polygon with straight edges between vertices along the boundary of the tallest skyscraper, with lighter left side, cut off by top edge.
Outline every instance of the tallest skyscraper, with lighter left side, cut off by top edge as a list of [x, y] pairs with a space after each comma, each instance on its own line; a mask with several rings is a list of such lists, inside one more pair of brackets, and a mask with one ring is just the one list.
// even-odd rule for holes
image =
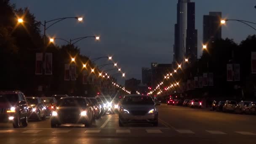
[[179, 0], [175, 24], [173, 62], [181, 63], [185, 57], [197, 58], [197, 29], [195, 29], [195, 3]]

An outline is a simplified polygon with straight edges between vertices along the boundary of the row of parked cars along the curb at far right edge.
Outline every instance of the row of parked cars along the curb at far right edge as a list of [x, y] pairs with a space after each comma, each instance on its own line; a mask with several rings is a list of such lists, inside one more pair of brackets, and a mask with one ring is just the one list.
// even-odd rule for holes
[[239, 114], [256, 114], [256, 102], [253, 101], [213, 101], [210, 110], [222, 112], [235, 112]]

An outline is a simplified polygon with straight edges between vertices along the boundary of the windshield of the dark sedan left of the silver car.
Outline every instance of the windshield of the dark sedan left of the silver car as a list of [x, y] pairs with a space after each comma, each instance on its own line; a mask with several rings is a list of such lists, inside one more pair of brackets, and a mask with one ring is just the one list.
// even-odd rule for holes
[[83, 98], [66, 98], [57, 102], [57, 107], [86, 107], [86, 101]]

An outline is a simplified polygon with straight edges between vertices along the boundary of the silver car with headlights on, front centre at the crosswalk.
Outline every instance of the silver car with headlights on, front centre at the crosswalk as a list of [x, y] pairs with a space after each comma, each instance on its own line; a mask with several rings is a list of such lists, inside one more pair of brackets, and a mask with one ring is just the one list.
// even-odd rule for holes
[[151, 96], [126, 95], [119, 107], [119, 126], [125, 123], [158, 125], [158, 110]]

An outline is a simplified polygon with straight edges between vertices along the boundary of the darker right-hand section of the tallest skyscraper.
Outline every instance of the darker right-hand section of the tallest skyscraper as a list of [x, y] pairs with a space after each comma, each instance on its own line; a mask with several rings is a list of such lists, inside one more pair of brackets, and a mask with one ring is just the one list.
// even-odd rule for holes
[[187, 38], [185, 57], [189, 61], [197, 59], [197, 29], [195, 29], [195, 3], [187, 3]]

